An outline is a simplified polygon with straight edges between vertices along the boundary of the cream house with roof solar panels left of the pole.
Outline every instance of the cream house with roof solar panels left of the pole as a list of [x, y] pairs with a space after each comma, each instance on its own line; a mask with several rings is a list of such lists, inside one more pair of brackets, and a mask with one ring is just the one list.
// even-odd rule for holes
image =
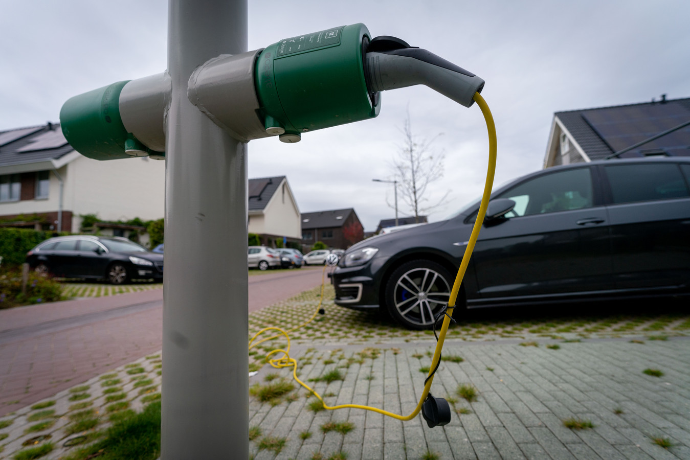
[[146, 221], [164, 206], [164, 161], [84, 157], [59, 123], [0, 130], [0, 226], [79, 232], [83, 214]]

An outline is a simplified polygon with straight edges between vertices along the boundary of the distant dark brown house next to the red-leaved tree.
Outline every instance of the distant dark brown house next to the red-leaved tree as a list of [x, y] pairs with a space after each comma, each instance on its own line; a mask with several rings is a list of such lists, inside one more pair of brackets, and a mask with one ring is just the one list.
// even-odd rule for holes
[[346, 249], [364, 239], [364, 228], [353, 208], [302, 213], [302, 245], [317, 241], [331, 249]]

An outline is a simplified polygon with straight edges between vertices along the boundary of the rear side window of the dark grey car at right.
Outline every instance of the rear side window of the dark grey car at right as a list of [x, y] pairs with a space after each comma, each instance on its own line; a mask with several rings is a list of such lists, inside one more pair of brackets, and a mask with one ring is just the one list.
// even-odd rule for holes
[[604, 166], [613, 203], [633, 203], [688, 197], [688, 187], [677, 164], [652, 163]]

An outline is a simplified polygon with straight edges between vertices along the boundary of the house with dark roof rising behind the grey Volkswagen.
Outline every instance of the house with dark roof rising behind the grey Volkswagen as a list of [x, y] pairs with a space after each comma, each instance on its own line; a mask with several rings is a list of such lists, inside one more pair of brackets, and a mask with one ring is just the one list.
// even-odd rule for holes
[[555, 112], [544, 168], [650, 156], [690, 156], [690, 98]]

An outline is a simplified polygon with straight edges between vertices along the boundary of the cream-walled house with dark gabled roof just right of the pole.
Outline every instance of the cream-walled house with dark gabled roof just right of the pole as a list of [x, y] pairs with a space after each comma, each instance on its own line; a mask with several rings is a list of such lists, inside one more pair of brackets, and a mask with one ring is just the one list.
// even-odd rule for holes
[[285, 176], [249, 179], [248, 230], [259, 235], [264, 246], [276, 241], [298, 244], [302, 239], [299, 208]]

